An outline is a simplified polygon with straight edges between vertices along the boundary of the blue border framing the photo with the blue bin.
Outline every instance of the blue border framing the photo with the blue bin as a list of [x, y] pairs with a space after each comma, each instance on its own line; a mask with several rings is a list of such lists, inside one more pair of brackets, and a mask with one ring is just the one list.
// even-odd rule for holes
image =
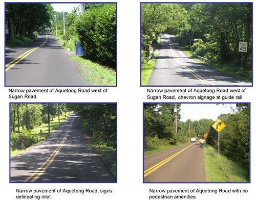
[[[42, 85], [42, 86], [34, 86], [34, 85], [21, 85], [21, 86], [15, 86], [15, 85], [6, 85], [6, 71], [4, 68], [4, 75], [5, 75], [5, 80], [4, 80], [4, 85], [5, 87], [117, 87], [117, 2], [5, 2], [5, 11], [6, 11], [6, 4], [81, 4], [81, 3], [87, 3], [87, 4], [116, 4], [116, 85], [112, 86], [90, 86], [90, 85], [84, 85], [84, 86], [47, 86], [47, 85]], [[5, 22], [4, 25], [6, 26], [6, 13], [5, 14]], [[5, 29], [4, 29], [5, 30]], [[6, 42], [6, 33], [5, 33], [5, 42]], [[5, 48], [5, 44], [4, 44]], [[6, 58], [6, 51], [5, 51], [5, 58]], [[6, 64], [5, 60], [4, 63]]]

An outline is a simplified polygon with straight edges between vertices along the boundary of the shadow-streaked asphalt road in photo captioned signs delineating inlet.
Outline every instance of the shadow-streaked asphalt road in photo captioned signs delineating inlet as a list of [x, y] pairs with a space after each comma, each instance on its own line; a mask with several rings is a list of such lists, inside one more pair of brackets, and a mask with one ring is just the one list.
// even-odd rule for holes
[[114, 183], [116, 179], [84, 139], [81, 118], [71, 114], [46, 140], [11, 158], [10, 182]]

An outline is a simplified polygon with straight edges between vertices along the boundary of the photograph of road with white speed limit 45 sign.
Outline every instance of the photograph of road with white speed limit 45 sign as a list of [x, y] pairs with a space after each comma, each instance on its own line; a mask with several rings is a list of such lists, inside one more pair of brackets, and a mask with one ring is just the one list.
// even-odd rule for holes
[[141, 86], [252, 86], [252, 3], [141, 3]]

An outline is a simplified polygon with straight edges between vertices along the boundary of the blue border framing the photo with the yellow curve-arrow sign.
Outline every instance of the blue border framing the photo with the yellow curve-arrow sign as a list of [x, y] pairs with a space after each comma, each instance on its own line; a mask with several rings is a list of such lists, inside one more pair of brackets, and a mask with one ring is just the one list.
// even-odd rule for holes
[[[249, 104], [249, 182], [232, 182], [232, 183], [228, 183], [228, 182], [144, 182], [144, 104]], [[250, 184], [251, 183], [251, 103], [250, 102], [241, 102], [241, 103], [172, 103], [172, 102], [143, 102], [143, 136], [142, 136], [142, 142], [143, 142], [143, 147], [142, 147], [142, 156], [143, 156], [143, 166], [142, 166], [142, 182], [143, 184], [152, 184], [152, 183], [157, 183], [157, 184], [168, 184], [168, 183], [189, 183], [189, 184], [195, 184], [195, 183], [201, 183], [201, 184], [211, 184], [211, 183], [225, 183], [225, 184], [233, 184], [233, 183], [241, 183], [241, 184]]]

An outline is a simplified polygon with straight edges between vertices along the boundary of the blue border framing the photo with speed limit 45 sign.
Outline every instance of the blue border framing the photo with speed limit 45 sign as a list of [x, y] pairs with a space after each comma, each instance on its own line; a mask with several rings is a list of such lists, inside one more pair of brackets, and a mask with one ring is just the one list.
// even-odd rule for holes
[[251, 4], [251, 85], [215, 85], [213, 87], [253, 87], [253, 2], [141, 2], [140, 3], [140, 87], [209, 87], [207, 85], [141, 85], [141, 5], [142, 4]]

